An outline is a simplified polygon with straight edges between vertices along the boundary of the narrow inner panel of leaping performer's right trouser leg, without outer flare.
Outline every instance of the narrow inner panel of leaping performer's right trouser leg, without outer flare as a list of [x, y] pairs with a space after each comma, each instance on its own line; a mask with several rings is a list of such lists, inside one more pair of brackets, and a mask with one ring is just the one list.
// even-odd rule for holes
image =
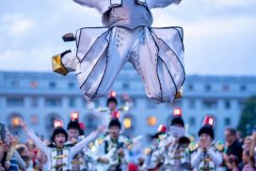
[[130, 62], [136, 68], [149, 98], [162, 101], [162, 87], [157, 74], [157, 48], [152, 39], [145, 39], [144, 27], [136, 29], [136, 41], [131, 49]]

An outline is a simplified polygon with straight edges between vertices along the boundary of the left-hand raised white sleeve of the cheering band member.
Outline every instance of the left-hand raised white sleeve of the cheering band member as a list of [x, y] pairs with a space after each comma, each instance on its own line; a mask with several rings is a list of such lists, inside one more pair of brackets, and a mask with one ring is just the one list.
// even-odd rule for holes
[[48, 148], [43, 141], [40, 140], [40, 138], [33, 132], [32, 130], [28, 130], [25, 132], [29, 138], [31, 138], [35, 145], [43, 152], [47, 158], [50, 156], [50, 148]]

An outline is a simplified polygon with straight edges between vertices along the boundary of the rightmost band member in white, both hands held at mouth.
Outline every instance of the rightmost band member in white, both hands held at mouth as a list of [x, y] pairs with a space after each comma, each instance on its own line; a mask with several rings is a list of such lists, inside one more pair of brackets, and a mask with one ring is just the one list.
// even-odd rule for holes
[[222, 163], [223, 158], [220, 148], [215, 143], [215, 132], [213, 129], [214, 118], [205, 117], [203, 126], [200, 128], [200, 142], [194, 147], [190, 147], [191, 166], [194, 171], [216, 171]]

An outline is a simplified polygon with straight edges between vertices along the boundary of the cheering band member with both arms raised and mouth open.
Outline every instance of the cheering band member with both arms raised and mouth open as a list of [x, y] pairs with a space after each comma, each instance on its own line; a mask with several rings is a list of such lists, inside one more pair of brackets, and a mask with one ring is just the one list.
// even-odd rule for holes
[[81, 142], [77, 143], [75, 146], [65, 146], [65, 143], [68, 141], [68, 133], [63, 129], [63, 123], [61, 120], [55, 121], [55, 130], [52, 136], [52, 144], [46, 146], [44, 142], [35, 134], [35, 132], [29, 130], [26, 127], [24, 121], [21, 121], [21, 126], [24, 129], [24, 132], [31, 138], [35, 145], [40, 148], [40, 150], [47, 157], [47, 170], [51, 171], [66, 171], [72, 170], [72, 159], [83, 150], [88, 145], [88, 142], [95, 139], [104, 128], [99, 127], [95, 132], [91, 132], [88, 137], [84, 138]]

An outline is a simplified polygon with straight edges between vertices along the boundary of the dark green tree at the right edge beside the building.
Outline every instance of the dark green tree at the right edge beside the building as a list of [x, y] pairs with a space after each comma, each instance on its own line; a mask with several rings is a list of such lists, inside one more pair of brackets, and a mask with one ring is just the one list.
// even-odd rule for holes
[[251, 134], [256, 130], [256, 96], [253, 96], [246, 101], [242, 110], [238, 130], [244, 135]]

